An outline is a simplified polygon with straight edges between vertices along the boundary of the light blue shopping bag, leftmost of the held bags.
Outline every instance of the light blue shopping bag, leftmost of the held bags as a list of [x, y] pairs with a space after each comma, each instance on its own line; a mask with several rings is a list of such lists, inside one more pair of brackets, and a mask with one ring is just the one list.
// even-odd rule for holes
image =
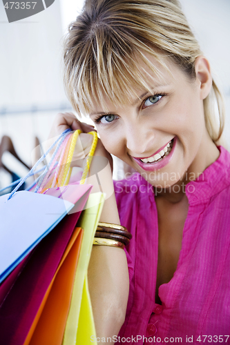
[[73, 185], [46, 195], [20, 191], [10, 200], [0, 197], [0, 283], [72, 208], [83, 208], [90, 188]]

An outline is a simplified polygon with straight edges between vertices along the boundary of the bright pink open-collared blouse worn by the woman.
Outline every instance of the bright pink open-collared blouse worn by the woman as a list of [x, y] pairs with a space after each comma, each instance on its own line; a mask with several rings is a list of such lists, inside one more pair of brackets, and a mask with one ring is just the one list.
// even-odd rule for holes
[[120, 221], [133, 235], [126, 250], [130, 293], [118, 344], [230, 344], [230, 154], [219, 150], [220, 157], [186, 185], [182, 249], [173, 278], [159, 288], [162, 305], [155, 303], [153, 187], [137, 173], [115, 181]]

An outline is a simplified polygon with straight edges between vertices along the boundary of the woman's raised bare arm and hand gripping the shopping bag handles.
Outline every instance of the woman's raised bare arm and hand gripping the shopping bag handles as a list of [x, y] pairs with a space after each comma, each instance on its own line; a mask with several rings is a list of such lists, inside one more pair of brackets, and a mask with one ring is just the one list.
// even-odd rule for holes
[[[55, 137], [67, 128], [80, 129], [89, 132], [93, 128], [77, 121], [72, 113], [57, 115], [52, 126], [50, 137]], [[88, 150], [90, 135], [85, 135], [82, 146]], [[79, 146], [76, 146], [79, 150]], [[88, 152], [87, 152], [88, 153]], [[79, 157], [79, 152], [75, 152]], [[103, 168], [102, 168], [103, 167]], [[106, 193], [106, 200], [100, 221], [119, 224], [119, 215], [112, 179], [112, 158], [99, 140], [95, 155], [90, 165], [90, 172], [86, 184], [93, 184], [93, 192]], [[108, 246], [93, 246], [88, 267], [88, 286], [95, 319], [97, 337], [111, 337], [119, 333], [126, 315], [128, 302], [128, 266], [126, 255], [121, 248]], [[104, 343], [106, 344], [106, 343]], [[107, 344], [113, 344], [108, 340]]]

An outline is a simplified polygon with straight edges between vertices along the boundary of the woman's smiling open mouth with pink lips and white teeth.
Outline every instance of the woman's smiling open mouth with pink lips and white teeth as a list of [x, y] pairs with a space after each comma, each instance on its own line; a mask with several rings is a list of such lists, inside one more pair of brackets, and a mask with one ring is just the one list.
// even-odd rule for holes
[[137, 164], [146, 171], [159, 170], [169, 164], [173, 157], [173, 152], [175, 150], [177, 142], [177, 137], [171, 139], [165, 146], [162, 146], [150, 157], [133, 157]]

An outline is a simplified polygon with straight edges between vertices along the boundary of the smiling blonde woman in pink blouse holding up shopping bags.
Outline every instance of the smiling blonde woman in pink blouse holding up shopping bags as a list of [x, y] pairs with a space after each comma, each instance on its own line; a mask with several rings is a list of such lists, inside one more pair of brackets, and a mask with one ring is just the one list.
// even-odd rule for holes
[[[73, 107], [93, 119], [101, 138], [95, 155], [111, 162], [113, 154], [137, 171], [115, 182], [117, 204], [108, 166], [100, 179], [111, 195], [101, 221], [120, 221], [133, 238], [126, 251], [93, 248], [97, 336], [106, 342], [119, 332], [108, 344], [230, 344], [230, 156], [217, 146], [222, 99], [180, 4], [86, 0], [70, 25], [64, 66]], [[52, 134], [68, 127], [91, 130], [66, 113]], [[95, 181], [92, 169], [88, 183]]]

